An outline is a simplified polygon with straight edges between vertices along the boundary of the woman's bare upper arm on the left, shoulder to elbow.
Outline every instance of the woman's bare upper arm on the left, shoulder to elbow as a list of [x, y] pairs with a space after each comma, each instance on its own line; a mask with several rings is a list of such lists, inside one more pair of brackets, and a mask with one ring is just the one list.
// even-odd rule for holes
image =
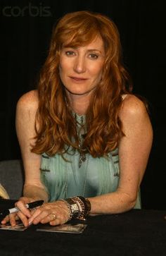
[[20, 97], [16, 108], [15, 126], [25, 168], [25, 184], [39, 185], [41, 156], [31, 152], [34, 144], [35, 116], [38, 108], [37, 91], [27, 92]]

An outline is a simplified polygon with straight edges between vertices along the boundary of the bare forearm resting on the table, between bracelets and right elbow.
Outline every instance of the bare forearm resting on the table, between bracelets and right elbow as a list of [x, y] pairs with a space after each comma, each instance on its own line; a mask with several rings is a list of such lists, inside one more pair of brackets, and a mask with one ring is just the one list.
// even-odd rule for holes
[[88, 199], [91, 202], [91, 215], [127, 212], [136, 203], [134, 197], [118, 191], [106, 195], [89, 197]]

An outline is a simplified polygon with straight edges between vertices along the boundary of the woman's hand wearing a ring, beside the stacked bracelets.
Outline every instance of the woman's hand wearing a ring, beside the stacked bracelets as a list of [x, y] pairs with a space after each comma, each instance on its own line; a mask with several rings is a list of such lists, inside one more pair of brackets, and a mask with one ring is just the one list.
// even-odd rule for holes
[[65, 202], [58, 200], [56, 202], [44, 203], [41, 207], [32, 211], [32, 217], [28, 220], [30, 224], [46, 224], [51, 226], [64, 224], [70, 219], [70, 212]]

